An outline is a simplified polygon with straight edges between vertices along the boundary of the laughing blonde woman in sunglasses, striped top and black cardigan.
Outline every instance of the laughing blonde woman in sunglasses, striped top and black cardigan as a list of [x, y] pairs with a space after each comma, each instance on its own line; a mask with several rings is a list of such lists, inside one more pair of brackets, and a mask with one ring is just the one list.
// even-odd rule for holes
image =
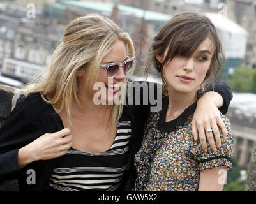
[[[134, 56], [130, 36], [108, 18], [71, 22], [47, 70], [0, 129], [0, 179], [18, 177], [20, 191], [114, 191], [130, 181], [132, 173], [122, 180], [123, 173], [141, 138], [137, 120], [144, 124], [149, 105], [113, 101], [132, 75]], [[105, 105], [96, 104], [95, 84], [102, 85]]]

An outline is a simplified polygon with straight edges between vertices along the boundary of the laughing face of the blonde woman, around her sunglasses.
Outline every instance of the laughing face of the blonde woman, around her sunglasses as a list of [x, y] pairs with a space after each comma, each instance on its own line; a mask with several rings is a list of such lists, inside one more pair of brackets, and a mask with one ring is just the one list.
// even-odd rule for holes
[[[126, 54], [126, 46], [124, 41], [117, 40], [116, 44], [110, 50], [110, 52], [102, 59], [100, 64], [108, 64], [111, 62], [123, 62], [127, 59]], [[103, 68], [99, 68], [98, 78], [96, 79], [96, 83], [98, 83], [100, 87], [100, 101], [104, 101], [103, 104], [113, 104], [115, 95], [120, 90], [120, 82], [124, 82], [126, 75], [124, 74], [123, 68], [119, 68], [116, 76], [114, 78], [108, 78], [106, 70]], [[85, 77], [82, 77], [86, 80]], [[84, 82], [80, 82], [81, 84]], [[96, 92], [99, 92], [99, 89], [93, 90], [93, 87], [86, 87], [84, 93], [87, 97], [93, 98]], [[97, 95], [98, 96], [98, 95]], [[97, 97], [98, 99], [98, 97]]]

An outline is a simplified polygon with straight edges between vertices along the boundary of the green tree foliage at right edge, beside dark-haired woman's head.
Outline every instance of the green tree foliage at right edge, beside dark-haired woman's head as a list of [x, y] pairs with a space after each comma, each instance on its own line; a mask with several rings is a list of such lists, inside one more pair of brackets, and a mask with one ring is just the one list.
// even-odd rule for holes
[[236, 68], [228, 85], [233, 92], [256, 93], [256, 69]]

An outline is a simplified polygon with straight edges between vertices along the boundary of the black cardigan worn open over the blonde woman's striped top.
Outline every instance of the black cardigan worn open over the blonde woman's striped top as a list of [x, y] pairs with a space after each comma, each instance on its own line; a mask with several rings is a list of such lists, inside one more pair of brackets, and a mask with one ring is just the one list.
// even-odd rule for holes
[[[219, 92], [225, 101], [220, 108], [225, 114], [232, 99], [232, 92], [227, 86], [215, 86], [215, 91]], [[144, 123], [149, 110], [150, 105], [124, 105], [121, 117], [132, 121], [132, 137], [129, 143], [130, 168], [124, 173], [121, 191], [130, 191], [134, 187], [136, 174], [133, 159], [140, 149]], [[41, 135], [54, 133], [63, 128], [59, 115], [52, 105], [43, 101], [40, 94], [29, 94], [21, 99], [0, 129], [0, 184], [5, 180], [18, 178], [20, 191], [45, 191], [57, 158], [34, 161], [22, 170], [18, 170], [17, 152]], [[29, 169], [36, 172], [36, 184], [27, 184]]]

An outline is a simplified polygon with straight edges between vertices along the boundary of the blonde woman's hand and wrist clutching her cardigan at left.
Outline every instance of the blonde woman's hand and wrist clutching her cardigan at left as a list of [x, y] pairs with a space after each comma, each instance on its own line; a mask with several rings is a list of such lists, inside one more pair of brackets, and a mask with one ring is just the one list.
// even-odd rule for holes
[[56, 133], [45, 133], [18, 152], [18, 168], [37, 160], [54, 159], [63, 154], [72, 146], [70, 129], [64, 128]]

